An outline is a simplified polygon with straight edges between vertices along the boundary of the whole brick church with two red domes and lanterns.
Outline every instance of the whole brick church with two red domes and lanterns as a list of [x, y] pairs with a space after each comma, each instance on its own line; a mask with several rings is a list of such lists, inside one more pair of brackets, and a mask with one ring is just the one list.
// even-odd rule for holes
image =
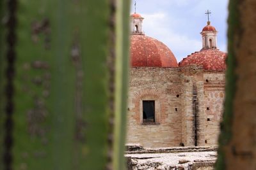
[[207, 22], [202, 50], [177, 63], [161, 41], [146, 36], [143, 17], [131, 15], [127, 143], [147, 148], [218, 145], [227, 53]]

